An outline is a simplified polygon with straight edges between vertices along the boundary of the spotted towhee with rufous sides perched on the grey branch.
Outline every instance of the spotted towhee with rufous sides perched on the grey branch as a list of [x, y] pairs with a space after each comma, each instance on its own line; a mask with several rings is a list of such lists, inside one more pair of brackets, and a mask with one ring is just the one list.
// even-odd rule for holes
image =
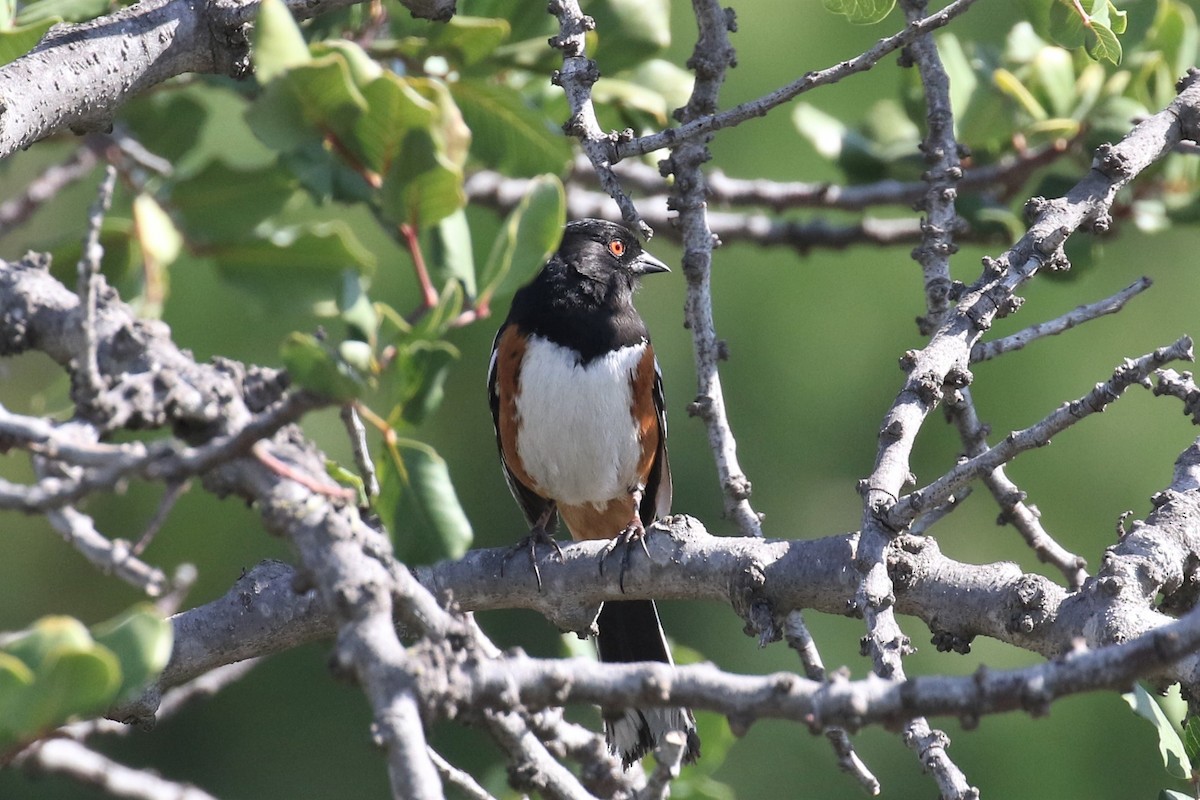
[[[553, 545], [559, 516], [571, 539], [629, 547], [671, 510], [662, 375], [634, 308], [641, 276], [667, 271], [626, 228], [580, 219], [512, 299], [487, 391], [530, 558], [536, 543]], [[601, 661], [673, 663], [654, 601], [606, 602], [596, 625]], [[626, 766], [668, 730], [686, 735], [685, 762], [700, 757], [688, 709], [626, 709], [605, 721], [608, 747]]]

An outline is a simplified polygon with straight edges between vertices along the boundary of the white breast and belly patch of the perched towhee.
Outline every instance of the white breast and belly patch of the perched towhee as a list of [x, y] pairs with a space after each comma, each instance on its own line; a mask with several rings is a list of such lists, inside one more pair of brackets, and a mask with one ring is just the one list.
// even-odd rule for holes
[[637, 481], [642, 446], [630, 377], [640, 342], [577, 363], [574, 351], [530, 336], [516, 398], [517, 455], [539, 489], [560, 504], [606, 503]]

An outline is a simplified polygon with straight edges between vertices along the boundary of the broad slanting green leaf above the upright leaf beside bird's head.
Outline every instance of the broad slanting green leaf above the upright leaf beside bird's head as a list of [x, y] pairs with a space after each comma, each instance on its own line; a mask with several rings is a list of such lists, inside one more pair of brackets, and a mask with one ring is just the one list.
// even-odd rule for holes
[[505, 175], [562, 175], [571, 163], [571, 143], [508, 86], [476, 79], [450, 86], [474, 132], [472, 156]]

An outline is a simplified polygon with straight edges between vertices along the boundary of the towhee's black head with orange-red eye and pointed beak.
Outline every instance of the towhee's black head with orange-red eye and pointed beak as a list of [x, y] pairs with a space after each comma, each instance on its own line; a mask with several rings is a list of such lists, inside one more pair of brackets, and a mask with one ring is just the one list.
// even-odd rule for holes
[[610, 291], [632, 289], [643, 275], [671, 271], [642, 249], [629, 228], [605, 219], [568, 223], [558, 255], [582, 278], [607, 287]]

